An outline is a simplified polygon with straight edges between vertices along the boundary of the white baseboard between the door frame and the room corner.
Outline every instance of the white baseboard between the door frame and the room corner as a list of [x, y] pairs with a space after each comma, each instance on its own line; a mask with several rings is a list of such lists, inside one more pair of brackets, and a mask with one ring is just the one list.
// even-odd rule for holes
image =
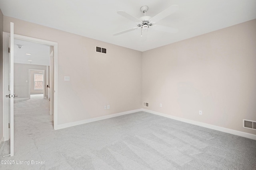
[[76, 126], [76, 125], [82, 125], [84, 123], [90, 123], [90, 122], [93, 122], [93, 121], [99, 121], [99, 120], [108, 119], [108, 118], [112, 118], [112, 117], [122, 116], [122, 115], [130, 114], [130, 113], [135, 113], [135, 112], [138, 112], [138, 111], [142, 111], [142, 109], [124, 111], [124, 112], [115, 113], [115, 114], [112, 114], [112, 115], [94, 117], [94, 118], [91, 118], [91, 119], [84, 119], [84, 120], [81, 120], [81, 121], [65, 123], [65, 124], [58, 125], [58, 129], [63, 129], [63, 128], [66, 128], [66, 127], [72, 127], [72, 126]]

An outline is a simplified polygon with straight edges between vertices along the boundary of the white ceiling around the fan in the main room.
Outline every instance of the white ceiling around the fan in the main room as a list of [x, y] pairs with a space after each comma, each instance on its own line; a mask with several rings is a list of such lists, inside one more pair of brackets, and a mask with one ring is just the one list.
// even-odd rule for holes
[[[140, 29], [122, 35], [114, 33], [136, 27], [118, 15], [123, 10], [137, 18], [155, 16], [171, 5], [178, 12], [159, 21], [158, 25], [176, 27], [178, 33], [148, 30], [147, 39]], [[146, 51], [197, 35], [229, 27], [256, 18], [256, 0], [0, 0], [4, 16], [18, 18], [98, 39], [138, 51]]]

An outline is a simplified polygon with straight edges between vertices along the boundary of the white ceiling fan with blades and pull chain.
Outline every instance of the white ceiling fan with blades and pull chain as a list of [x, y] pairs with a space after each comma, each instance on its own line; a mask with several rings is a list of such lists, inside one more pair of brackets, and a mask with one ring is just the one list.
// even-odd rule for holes
[[150, 16], [146, 16], [146, 12], [148, 11], [148, 6], [142, 6], [140, 8], [140, 11], [144, 13], [144, 16], [140, 17], [139, 19], [124, 12], [124, 11], [118, 11], [117, 14], [119, 14], [129, 20], [134, 21], [136, 23], [137, 27], [126, 29], [124, 31], [115, 33], [113, 35], [120, 35], [120, 34], [127, 33], [130, 31], [139, 29], [139, 28], [141, 28], [141, 36], [142, 36], [142, 31], [148, 31], [148, 28], [153, 28], [154, 30], [164, 31], [164, 32], [168, 32], [168, 33], [177, 33], [178, 32], [177, 28], [166, 27], [163, 25], [155, 25], [155, 23], [166, 18], [170, 14], [176, 12], [178, 9], [179, 9], [178, 5], [172, 5], [172, 6], [168, 7], [166, 10], [157, 14], [156, 16], [150, 17]]

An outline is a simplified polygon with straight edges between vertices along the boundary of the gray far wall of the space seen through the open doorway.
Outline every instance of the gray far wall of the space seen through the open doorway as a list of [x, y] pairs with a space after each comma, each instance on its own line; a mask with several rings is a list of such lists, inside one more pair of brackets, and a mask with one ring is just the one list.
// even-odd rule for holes
[[[44, 70], [44, 72], [46, 73], [46, 66], [14, 63], [14, 93], [18, 95], [17, 98], [29, 98], [29, 69]], [[28, 80], [28, 82], [26, 82], [26, 80]], [[30, 82], [32, 83], [30, 86], [32, 86], [33, 88], [33, 77]], [[45, 97], [46, 85], [47, 84], [44, 81]], [[32, 91], [31, 94], [33, 93], [36, 94], [36, 92]]]

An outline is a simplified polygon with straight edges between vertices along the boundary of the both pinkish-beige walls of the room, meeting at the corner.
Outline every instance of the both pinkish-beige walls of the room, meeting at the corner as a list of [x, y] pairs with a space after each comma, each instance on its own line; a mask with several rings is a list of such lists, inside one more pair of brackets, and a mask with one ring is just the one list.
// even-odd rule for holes
[[149, 102], [145, 109], [256, 134], [242, 128], [256, 120], [256, 20], [143, 53], [4, 16], [6, 32], [10, 21], [16, 34], [58, 42], [58, 124]]

